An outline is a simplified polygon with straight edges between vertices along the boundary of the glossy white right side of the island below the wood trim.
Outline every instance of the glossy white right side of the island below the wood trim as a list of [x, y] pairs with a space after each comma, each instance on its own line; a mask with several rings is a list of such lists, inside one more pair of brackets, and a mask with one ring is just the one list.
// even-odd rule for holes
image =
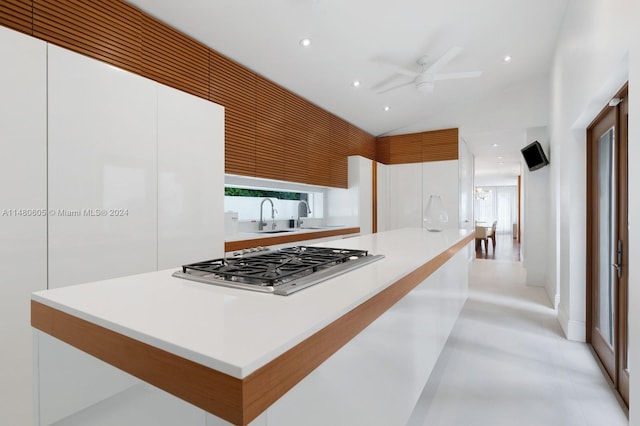
[[267, 409], [267, 425], [405, 425], [464, 305], [464, 251]]

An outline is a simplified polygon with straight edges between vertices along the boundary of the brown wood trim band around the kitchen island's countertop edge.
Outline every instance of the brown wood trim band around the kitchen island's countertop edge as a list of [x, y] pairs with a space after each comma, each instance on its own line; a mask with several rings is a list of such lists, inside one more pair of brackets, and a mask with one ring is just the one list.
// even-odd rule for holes
[[244, 379], [31, 301], [31, 325], [236, 425], [247, 425], [474, 240], [470, 234]]

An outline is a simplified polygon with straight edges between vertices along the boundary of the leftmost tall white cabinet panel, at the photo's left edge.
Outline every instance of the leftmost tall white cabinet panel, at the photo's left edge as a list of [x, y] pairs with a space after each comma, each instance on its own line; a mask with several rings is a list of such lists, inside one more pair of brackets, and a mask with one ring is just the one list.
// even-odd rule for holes
[[0, 26], [0, 413], [31, 424], [29, 300], [47, 288], [47, 52]]

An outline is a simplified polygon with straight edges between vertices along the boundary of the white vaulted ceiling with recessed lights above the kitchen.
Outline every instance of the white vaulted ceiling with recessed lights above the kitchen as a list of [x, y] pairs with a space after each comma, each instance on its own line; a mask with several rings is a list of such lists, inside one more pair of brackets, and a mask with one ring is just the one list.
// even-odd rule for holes
[[[548, 75], [568, 2], [129, 1], [373, 135], [458, 127], [485, 176], [519, 174], [526, 130], [548, 124]], [[481, 76], [418, 91], [406, 75], [421, 70], [416, 61], [426, 57], [429, 68], [448, 54], [440, 73]]]

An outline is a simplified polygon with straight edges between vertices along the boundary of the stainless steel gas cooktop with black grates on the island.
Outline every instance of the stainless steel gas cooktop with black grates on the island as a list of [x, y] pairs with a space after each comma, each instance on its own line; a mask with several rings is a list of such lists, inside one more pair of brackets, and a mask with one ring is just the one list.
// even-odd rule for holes
[[183, 265], [173, 276], [286, 296], [382, 258], [366, 250], [297, 246]]

